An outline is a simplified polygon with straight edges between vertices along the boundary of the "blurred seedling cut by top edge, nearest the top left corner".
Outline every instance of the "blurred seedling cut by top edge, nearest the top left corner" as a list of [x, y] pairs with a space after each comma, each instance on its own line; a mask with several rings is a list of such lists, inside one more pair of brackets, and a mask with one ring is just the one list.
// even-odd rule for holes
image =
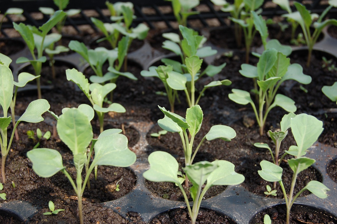
[[[63, 10], [68, 6], [69, 0], [54, 0], [54, 4], [58, 7], [58, 10]], [[46, 14], [46, 15], [53, 16], [55, 14], [55, 10], [53, 8], [39, 7], [39, 10], [43, 14]], [[62, 34], [62, 28], [64, 27], [67, 17], [71, 17], [73, 15], [79, 14], [81, 10], [80, 9], [69, 9], [64, 12], [66, 13], [66, 16], [56, 24], [56, 29], [59, 34]]]

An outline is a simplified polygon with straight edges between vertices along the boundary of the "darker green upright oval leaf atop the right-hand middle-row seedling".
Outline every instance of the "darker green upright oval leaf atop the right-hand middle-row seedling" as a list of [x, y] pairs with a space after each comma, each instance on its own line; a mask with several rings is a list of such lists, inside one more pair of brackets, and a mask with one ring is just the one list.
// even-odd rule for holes
[[258, 80], [263, 81], [269, 70], [274, 66], [277, 59], [277, 50], [268, 49], [265, 50], [257, 63], [257, 75]]

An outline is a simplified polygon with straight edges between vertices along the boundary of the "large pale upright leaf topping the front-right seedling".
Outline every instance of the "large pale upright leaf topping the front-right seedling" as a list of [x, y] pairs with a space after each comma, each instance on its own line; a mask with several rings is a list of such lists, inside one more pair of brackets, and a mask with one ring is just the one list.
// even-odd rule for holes
[[323, 122], [307, 114], [299, 114], [293, 118], [291, 127], [299, 153], [312, 146], [324, 129]]

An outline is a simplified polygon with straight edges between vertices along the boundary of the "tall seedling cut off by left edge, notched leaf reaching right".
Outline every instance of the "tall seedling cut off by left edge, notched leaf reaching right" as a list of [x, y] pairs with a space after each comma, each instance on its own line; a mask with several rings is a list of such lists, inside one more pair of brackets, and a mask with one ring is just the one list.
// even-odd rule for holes
[[[8, 109], [12, 105], [15, 105], [16, 99], [16, 92], [13, 98], [13, 88], [14, 88], [14, 81], [13, 75], [11, 70], [9, 69], [8, 61], [1, 60], [3, 64], [0, 64], [0, 74], [1, 74], [1, 82], [0, 82], [0, 104], [3, 111], [3, 117], [0, 118], [0, 146], [1, 146], [1, 175], [2, 175], [2, 182], [6, 183], [6, 174], [5, 174], [5, 163], [6, 157], [9, 153], [10, 147], [12, 145], [12, 140], [14, 137], [14, 132], [21, 121], [26, 121], [30, 123], [38, 123], [43, 121], [42, 114], [50, 108], [50, 105], [47, 100], [45, 99], [38, 99], [32, 101], [25, 113], [18, 119], [16, 124], [13, 127], [12, 134], [10, 136], [9, 142], [7, 139], [7, 128], [12, 120], [11, 116], [7, 116]], [[19, 83], [20, 80], [19, 80]], [[14, 106], [13, 106], [14, 107]], [[12, 110], [12, 114], [14, 110]]]

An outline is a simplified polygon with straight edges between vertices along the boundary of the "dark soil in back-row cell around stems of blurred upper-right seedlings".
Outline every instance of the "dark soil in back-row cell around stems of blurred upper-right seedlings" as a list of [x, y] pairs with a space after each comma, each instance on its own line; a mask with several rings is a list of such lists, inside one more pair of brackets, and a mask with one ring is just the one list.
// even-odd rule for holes
[[[220, 27], [210, 31], [209, 41], [215, 46], [223, 49], [238, 49], [235, 40], [234, 26], [233, 27]], [[258, 32], [256, 32], [251, 47], [259, 47], [262, 45], [262, 40]], [[242, 32], [241, 50], [245, 49], [245, 39]]]

